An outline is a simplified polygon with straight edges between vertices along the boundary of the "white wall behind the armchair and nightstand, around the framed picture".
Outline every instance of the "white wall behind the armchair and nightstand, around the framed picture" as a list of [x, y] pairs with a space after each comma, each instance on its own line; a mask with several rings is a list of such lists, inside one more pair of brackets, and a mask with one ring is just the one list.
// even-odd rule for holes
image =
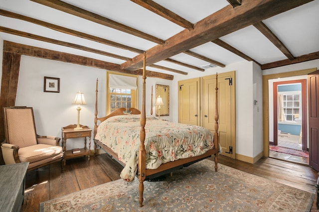
[[[60, 93], [43, 92], [44, 76], [60, 78]], [[61, 137], [62, 126], [77, 123], [77, 105], [72, 102], [76, 93], [81, 91], [87, 105], [81, 106], [80, 124], [88, 125], [93, 130], [97, 78], [98, 111], [99, 116], [104, 116], [105, 70], [22, 56], [15, 105], [33, 107], [37, 134]], [[67, 149], [84, 146], [84, 139], [78, 140], [81, 142], [74, 142], [76, 139], [67, 140]]]

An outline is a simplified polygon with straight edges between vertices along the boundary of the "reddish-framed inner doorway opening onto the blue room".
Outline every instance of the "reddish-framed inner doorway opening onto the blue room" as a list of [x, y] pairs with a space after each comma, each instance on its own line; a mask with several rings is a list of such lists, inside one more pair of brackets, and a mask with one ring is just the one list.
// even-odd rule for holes
[[307, 81], [273, 83], [274, 138], [270, 156], [309, 164], [307, 151]]

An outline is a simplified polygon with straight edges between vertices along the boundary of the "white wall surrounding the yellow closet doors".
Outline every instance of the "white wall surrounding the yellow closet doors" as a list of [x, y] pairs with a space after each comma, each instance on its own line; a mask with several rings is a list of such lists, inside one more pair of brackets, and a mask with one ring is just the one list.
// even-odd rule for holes
[[[217, 73], [225, 73], [235, 70], [235, 85], [236, 85], [236, 154], [253, 157], [254, 142], [262, 142], [261, 140], [254, 141], [253, 134], [253, 62], [239, 62], [227, 65], [225, 68], [210, 68], [205, 72], [192, 72], [184, 76], [175, 76], [173, 80], [173, 89], [170, 90], [174, 99], [172, 104], [172, 120], [178, 122], [178, 81], [215, 75]], [[262, 83], [256, 85], [258, 92], [262, 91]], [[262, 102], [262, 100], [260, 100]], [[243, 112], [245, 111], [245, 112]], [[261, 113], [261, 111], [260, 111]], [[261, 116], [262, 117], [262, 116]], [[259, 129], [258, 129], [259, 130]]]

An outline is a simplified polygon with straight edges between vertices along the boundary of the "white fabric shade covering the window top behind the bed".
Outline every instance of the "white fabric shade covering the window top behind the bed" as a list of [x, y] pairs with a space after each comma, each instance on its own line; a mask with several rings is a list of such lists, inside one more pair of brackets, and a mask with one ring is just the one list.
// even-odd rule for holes
[[136, 81], [136, 77], [109, 74], [109, 88], [136, 90], [138, 88]]

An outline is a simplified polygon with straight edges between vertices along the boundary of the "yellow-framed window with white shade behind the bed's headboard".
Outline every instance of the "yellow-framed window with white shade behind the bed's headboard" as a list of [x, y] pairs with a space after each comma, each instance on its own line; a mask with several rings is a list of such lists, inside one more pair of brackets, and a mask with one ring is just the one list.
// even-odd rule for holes
[[107, 114], [124, 107], [137, 107], [137, 76], [119, 75], [108, 72]]

